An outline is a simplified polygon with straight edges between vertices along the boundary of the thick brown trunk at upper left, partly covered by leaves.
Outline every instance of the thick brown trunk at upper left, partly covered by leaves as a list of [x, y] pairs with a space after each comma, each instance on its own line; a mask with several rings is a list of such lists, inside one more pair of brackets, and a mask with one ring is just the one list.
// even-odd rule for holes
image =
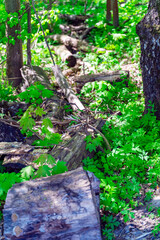
[[[5, 7], [7, 13], [17, 12], [19, 15], [20, 0], [6, 0]], [[13, 86], [17, 87], [22, 82], [20, 68], [23, 65], [22, 58], [22, 41], [19, 39], [21, 26], [18, 22], [17, 25], [10, 26], [7, 23], [6, 35], [8, 37], [7, 43], [7, 77]], [[13, 42], [11, 42], [13, 40]]]

